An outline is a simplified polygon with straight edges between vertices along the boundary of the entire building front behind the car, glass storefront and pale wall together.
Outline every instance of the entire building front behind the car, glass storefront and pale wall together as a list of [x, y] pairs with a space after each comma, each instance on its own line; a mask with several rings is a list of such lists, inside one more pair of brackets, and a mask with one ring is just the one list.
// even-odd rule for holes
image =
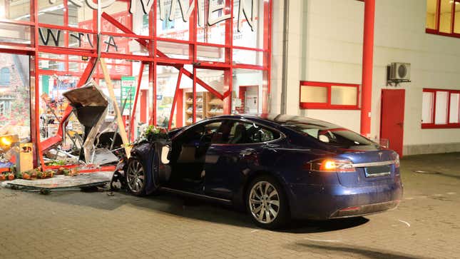
[[[21, 137], [39, 158], [72, 121], [62, 93], [94, 80], [108, 94], [106, 79], [131, 139], [142, 124], [290, 113], [357, 132], [370, 123], [364, 135], [402, 155], [460, 151], [459, 2], [4, 0], [0, 58], [25, 75], [30, 116], [19, 125], [30, 131]], [[363, 39], [373, 40], [364, 74]], [[11, 62], [0, 66], [0, 98], [17, 88]], [[410, 81], [389, 85], [394, 62], [410, 64]]]

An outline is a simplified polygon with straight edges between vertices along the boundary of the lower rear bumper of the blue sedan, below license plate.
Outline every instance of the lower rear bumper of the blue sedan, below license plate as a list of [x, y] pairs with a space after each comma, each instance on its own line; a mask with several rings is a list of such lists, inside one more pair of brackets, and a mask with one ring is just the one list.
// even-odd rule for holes
[[402, 198], [400, 181], [392, 184], [344, 186], [290, 185], [292, 218], [325, 220], [379, 213], [397, 207]]

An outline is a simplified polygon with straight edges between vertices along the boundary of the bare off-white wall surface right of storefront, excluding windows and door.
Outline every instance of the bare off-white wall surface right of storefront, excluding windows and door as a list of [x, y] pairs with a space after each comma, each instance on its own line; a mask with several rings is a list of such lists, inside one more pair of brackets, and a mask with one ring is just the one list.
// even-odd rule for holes
[[[275, 107], [281, 103], [280, 21], [284, 14], [276, 8], [283, 2], [274, 1], [271, 96]], [[359, 132], [360, 111], [301, 110], [299, 83], [361, 83], [364, 2], [290, 0], [289, 10], [287, 113], [320, 118]], [[425, 22], [426, 1], [376, 0], [371, 138], [379, 138], [380, 93], [386, 87], [387, 65], [411, 63], [412, 82], [399, 86], [406, 89], [405, 155], [460, 151], [460, 129], [421, 129], [422, 89], [460, 89], [460, 39], [426, 34]]]

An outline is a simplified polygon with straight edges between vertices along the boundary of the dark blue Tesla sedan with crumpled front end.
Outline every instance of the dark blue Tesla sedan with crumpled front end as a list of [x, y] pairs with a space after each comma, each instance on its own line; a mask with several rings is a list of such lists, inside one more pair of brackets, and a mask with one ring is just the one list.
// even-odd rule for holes
[[255, 224], [379, 213], [402, 198], [399, 156], [332, 123], [217, 116], [143, 141], [119, 166], [131, 193], [166, 191], [245, 208]]

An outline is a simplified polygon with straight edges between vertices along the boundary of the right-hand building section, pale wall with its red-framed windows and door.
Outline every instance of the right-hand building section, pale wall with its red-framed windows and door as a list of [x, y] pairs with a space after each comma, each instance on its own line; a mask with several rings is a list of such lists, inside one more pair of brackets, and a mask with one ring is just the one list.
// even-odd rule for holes
[[[285, 8], [283, 1], [274, 1], [271, 111], [282, 111], [285, 102], [287, 113], [332, 121], [359, 132], [362, 96], [354, 98], [352, 86], [362, 83], [364, 2], [289, 1]], [[285, 14], [289, 29], [283, 100]], [[399, 141], [404, 155], [460, 151], [460, 19], [456, 14], [460, 14], [459, 1], [375, 1], [370, 138], [388, 138], [381, 134], [386, 130], [381, 122], [397, 113], [385, 109], [385, 103], [382, 111], [382, 91], [403, 89], [404, 98], [389, 102], [404, 101], [404, 118], [398, 122], [402, 134], [390, 134], [394, 138], [389, 140], [390, 148]], [[411, 65], [410, 82], [387, 86], [387, 66], [392, 62]], [[316, 91], [304, 91], [310, 97], [301, 96], [302, 82], [318, 86], [313, 88]]]

